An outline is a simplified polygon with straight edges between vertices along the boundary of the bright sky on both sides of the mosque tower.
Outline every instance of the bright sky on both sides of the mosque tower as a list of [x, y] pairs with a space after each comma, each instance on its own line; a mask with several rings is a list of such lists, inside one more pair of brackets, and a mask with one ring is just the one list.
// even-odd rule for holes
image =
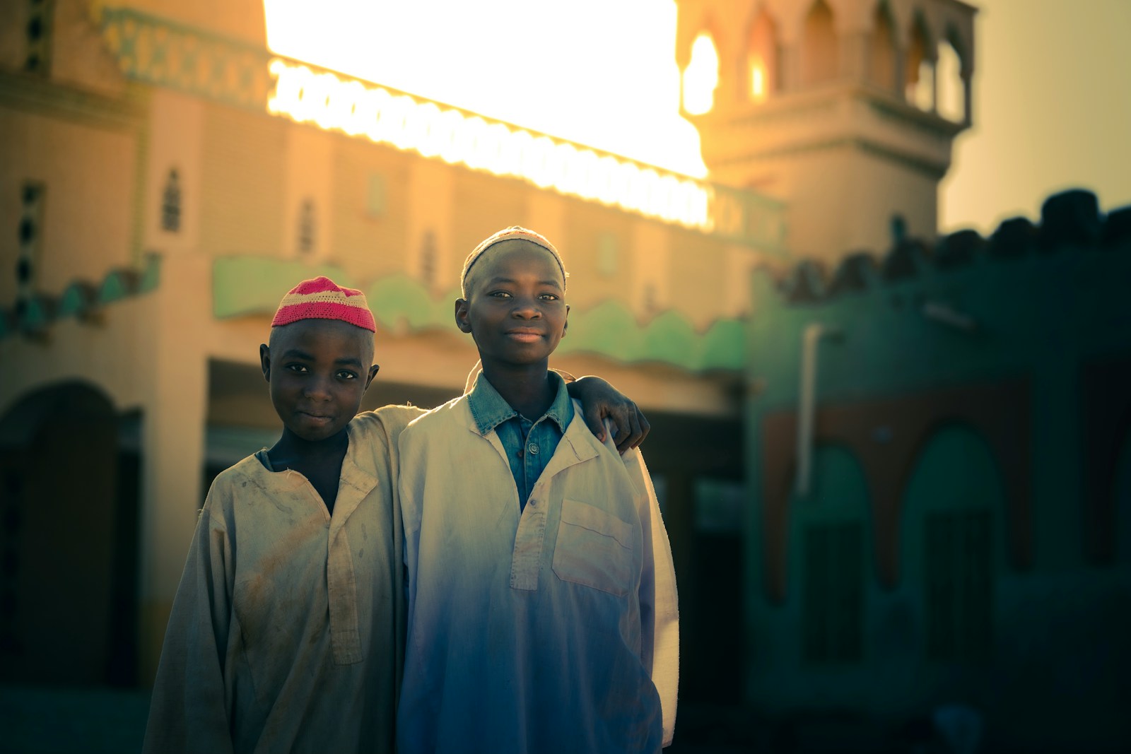
[[[265, 0], [268, 44], [359, 78], [701, 175], [679, 116], [673, 0]], [[1131, 205], [1131, 2], [975, 0], [975, 128], [942, 229], [1036, 218], [1085, 187]]]

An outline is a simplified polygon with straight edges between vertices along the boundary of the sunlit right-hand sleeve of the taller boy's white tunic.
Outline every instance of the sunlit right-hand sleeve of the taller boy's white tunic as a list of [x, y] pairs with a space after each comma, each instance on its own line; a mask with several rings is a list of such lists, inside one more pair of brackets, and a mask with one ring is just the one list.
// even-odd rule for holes
[[659, 692], [664, 717], [664, 746], [675, 734], [675, 705], [680, 687], [680, 606], [675, 591], [672, 546], [659, 514], [659, 501], [648, 467], [637, 449], [621, 457], [638, 491], [637, 508], [644, 526], [644, 570], [640, 578], [640, 655]]

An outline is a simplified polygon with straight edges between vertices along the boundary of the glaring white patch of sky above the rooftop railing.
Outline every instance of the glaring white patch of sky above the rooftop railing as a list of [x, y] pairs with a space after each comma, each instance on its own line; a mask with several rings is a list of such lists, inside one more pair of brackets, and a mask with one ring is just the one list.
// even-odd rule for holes
[[264, 5], [268, 46], [279, 55], [684, 175], [707, 174], [699, 135], [679, 114], [673, 0]]

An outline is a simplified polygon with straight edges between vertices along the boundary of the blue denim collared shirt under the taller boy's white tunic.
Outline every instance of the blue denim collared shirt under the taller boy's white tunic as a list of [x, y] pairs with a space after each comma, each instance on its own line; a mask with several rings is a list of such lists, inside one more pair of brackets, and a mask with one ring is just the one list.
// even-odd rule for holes
[[526, 508], [530, 488], [553, 458], [566, 427], [573, 419], [573, 402], [566, 390], [566, 382], [556, 372], [549, 372], [549, 375], [551, 382], [558, 384], [558, 395], [546, 413], [534, 422], [511, 408], [483, 374], [467, 396], [467, 406], [480, 433], [494, 430], [507, 451], [510, 473], [518, 488], [519, 510]]

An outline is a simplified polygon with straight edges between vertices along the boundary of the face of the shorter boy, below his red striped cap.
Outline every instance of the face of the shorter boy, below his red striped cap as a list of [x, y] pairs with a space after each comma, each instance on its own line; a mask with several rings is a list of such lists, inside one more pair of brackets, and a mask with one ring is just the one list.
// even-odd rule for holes
[[259, 347], [271, 404], [303, 440], [331, 437], [349, 423], [377, 374], [373, 333], [337, 320], [300, 320], [271, 329]]

